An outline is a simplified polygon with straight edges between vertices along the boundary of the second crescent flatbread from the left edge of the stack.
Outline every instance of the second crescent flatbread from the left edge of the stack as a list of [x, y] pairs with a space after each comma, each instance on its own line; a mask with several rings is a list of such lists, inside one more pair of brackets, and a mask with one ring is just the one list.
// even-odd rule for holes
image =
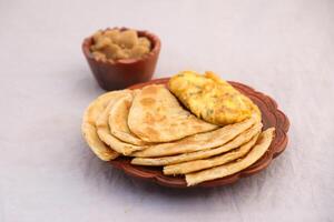
[[[124, 97], [128, 94], [125, 93]], [[118, 140], [117, 138], [115, 138], [109, 129], [109, 112], [110, 109], [112, 108], [112, 105], [119, 100], [120, 98], [110, 100], [109, 104], [107, 105], [107, 108], [104, 110], [104, 112], [99, 115], [98, 120], [97, 120], [97, 133], [99, 135], [99, 138], [101, 139], [101, 141], [104, 141], [105, 143], [107, 143], [108, 145], [110, 145], [115, 151], [117, 151], [118, 153], [121, 153], [124, 155], [129, 155], [131, 154], [134, 151], [138, 151], [138, 150], [143, 150], [145, 149], [145, 147], [138, 147], [138, 145], [134, 145], [130, 143], [125, 143], [120, 140]]]

